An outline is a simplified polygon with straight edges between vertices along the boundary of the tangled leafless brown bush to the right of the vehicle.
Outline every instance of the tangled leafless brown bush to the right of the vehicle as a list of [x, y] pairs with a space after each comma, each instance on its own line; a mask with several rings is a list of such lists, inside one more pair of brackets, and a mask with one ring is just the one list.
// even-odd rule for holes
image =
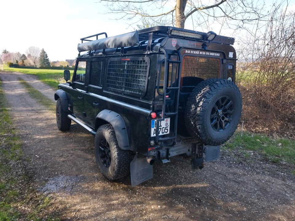
[[[250, 42], [236, 83], [243, 94], [249, 130], [295, 137], [295, 21], [293, 14], [269, 20], [265, 33]], [[245, 56], [245, 58], [247, 58]], [[250, 62], [249, 62], [250, 60]]]

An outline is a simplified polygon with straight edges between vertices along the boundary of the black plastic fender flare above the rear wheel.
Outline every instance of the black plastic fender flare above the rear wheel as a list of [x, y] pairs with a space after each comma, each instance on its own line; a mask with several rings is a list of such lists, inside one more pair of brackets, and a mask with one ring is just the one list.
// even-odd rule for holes
[[95, 118], [95, 130], [106, 122], [111, 124], [114, 128], [120, 149], [129, 150], [130, 147], [126, 124], [120, 114], [106, 109], [100, 111]]

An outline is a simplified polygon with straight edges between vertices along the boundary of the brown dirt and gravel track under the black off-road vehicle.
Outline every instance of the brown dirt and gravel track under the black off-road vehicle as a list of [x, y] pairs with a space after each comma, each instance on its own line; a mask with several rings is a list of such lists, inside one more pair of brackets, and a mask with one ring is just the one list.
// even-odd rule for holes
[[33, 76], [0, 73], [14, 123], [31, 161], [35, 187], [52, 197], [67, 220], [294, 220], [295, 176], [289, 169], [223, 151], [220, 160], [191, 171], [172, 160], [154, 166], [154, 178], [132, 188], [130, 177], [109, 182], [96, 166], [94, 137], [72, 123], [57, 130], [55, 114], [30, 98], [18, 78], [54, 90]]

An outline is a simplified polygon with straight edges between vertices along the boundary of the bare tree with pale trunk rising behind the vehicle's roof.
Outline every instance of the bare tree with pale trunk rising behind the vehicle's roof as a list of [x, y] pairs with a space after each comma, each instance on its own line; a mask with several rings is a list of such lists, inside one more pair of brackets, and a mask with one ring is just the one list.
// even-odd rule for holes
[[[195, 26], [208, 26], [210, 21], [222, 26], [243, 27], [264, 20], [269, 13], [265, 3], [254, 0], [213, 0], [203, 4], [200, 0], [100, 0], [118, 19], [146, 17], [152, 22], [184, 28], [185, 21], [194, 15]], [[156, 13], [161, 11], [160, 13]], [[233, 22], [230, 22], [233, 21]]]

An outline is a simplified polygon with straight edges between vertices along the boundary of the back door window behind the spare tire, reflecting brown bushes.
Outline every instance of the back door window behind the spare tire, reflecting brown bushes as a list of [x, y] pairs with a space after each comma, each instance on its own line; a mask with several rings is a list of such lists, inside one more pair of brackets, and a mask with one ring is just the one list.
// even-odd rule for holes
[[200, 56], [184, 56], [181, 73], [181, 92], [191, 92], [203, 80], [219, 78], [220, 59]]

